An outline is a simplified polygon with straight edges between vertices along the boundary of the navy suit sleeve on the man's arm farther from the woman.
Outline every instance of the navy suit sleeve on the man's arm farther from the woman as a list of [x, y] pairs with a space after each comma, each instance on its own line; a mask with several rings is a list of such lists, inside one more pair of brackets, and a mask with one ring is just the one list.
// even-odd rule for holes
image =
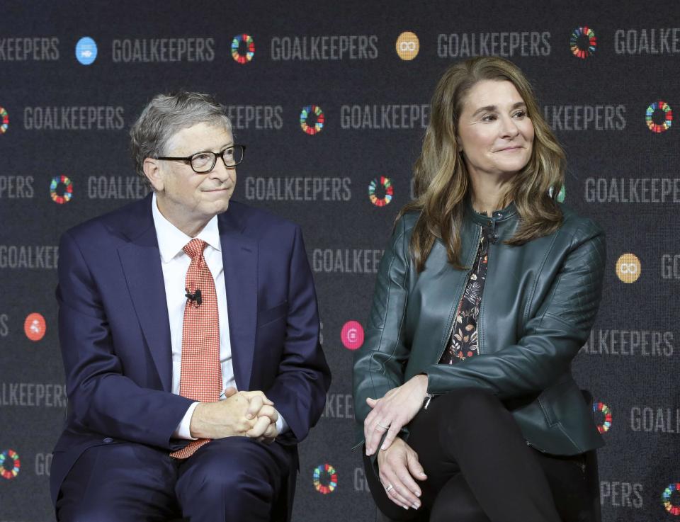
[[[88, 266], [77, 239], [65, 233], [60, 244], [57, 300], [69, 412], [75, 426], [179, 449], [186, 441], [171, 436], [191, 400], [140, 387], [125, 376], [93, 269], [96, 267]], [[140, 351], [143, 349], [140, 346]]]

